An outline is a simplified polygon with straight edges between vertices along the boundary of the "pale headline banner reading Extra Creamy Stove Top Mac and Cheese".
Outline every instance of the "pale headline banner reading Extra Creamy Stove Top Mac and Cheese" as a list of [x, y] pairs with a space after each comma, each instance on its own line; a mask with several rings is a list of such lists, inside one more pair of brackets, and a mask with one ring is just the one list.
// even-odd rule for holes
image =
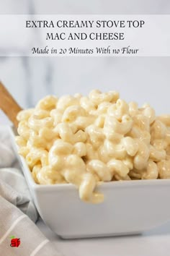
[[170, 15], [0, 15], [0, 56], [170, 56]]

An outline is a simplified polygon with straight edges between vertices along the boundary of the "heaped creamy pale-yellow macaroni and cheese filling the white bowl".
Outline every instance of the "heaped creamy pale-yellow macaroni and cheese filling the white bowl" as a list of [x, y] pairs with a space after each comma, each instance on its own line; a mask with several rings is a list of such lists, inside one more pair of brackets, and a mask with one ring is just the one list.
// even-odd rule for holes
[[79, 197], [102, 202], [99, 182], [170, 178], [170, 116], [92, 90], [47, 96], [19, 112], [17, 144], [37, 184], [72, 183]]

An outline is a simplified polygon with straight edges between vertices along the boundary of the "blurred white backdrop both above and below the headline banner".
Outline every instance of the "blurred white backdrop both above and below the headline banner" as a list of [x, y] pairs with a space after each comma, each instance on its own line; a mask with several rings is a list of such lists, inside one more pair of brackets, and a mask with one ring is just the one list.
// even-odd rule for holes
[[[169, 0], [0, 0], [0, 7], [1, 14], [170, 14]], [[2, 42], [0, 49], [10, 45]], [[170, 111], [169, 68], [169, 57], [0, 58], [0, 79], [23, 108], [47, 94], [99, 88], [118, 90], [140, 106], [151, 103], [161, 114]]]

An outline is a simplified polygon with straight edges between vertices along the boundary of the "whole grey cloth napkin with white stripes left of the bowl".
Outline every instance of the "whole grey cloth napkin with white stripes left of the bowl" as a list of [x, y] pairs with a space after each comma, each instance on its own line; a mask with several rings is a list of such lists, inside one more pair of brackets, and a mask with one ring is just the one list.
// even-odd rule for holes
[[0, 127], [0, 255], [61, 255], [35, 225], [37, 218], [9, 131]]

